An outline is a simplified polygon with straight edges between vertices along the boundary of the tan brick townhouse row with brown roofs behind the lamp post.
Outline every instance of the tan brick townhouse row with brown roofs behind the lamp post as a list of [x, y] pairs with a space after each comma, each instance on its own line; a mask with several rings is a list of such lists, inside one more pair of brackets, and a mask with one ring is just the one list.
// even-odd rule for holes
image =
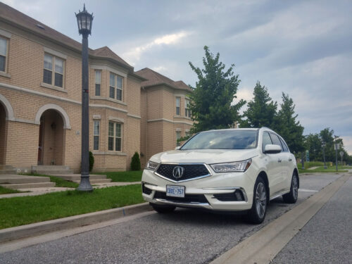
[[[81, 44], [0, 3], [0, 165], [80, 170]], [[189, 132], [189, 87], [89, 49], [89, 149], [95, 171], [127, 170]]]

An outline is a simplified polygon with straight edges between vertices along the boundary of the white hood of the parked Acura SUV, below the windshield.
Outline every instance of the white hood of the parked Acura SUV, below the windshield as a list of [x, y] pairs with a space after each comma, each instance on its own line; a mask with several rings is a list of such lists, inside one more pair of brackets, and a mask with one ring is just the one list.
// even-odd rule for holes
[[158, 153], [151, 157], [156, 163], [226, 163], [244, 161], [258, 155], [257, 149], [189, 149]]

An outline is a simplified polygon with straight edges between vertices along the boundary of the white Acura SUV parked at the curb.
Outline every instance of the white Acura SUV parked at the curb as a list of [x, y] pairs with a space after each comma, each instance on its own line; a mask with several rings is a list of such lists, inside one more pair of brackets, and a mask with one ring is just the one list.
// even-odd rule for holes
[[200, 132], [175, 151], [152, 156], [142, 176], [143, 198], [159, 213], [247, 210], [255, 224], [271, 199], [296, 203], [298, 187], [294, 155], [266, 127]]

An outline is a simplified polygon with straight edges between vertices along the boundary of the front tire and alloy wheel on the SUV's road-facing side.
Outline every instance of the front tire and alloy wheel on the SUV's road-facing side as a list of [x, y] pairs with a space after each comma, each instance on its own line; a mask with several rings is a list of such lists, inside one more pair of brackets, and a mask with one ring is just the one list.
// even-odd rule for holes
[[251, 210], [247, 212], [247, 220], [258, 225], [265, 219], [268, 208], [268, 188], [262, 177], [258, 177], [254, 184], [253, 204]]

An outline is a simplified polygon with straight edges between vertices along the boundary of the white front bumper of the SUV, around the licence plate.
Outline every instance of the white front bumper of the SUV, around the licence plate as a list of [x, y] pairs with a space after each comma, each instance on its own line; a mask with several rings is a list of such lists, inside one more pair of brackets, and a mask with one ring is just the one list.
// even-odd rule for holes
[[[249, 210], [252, 206], [255, 182], [250, 175], [250, 170], [213, 173], [201, 179], [171, 182], [154, 174], [152, 170], [144, 170], [142, 195], [145, 201], [161, 205], [224, 211]], [[166, 185], [184, 186], [184, 199], [166, 196]], [[239, 193], [237, 197], [240, 195], [241, 199], [236, 199], [236, 192]], [[232, 195], [234, 199], [229, 199]]]

